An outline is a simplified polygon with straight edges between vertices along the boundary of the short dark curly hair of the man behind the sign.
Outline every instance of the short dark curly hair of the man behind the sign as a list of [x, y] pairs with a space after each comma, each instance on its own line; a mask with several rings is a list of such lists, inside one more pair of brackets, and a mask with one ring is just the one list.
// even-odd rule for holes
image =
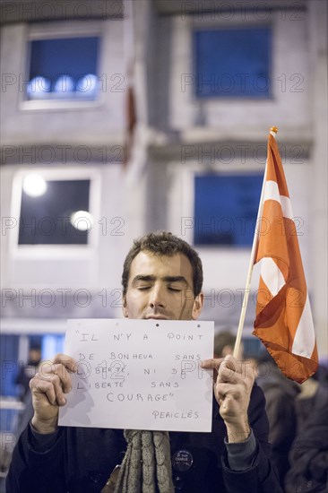
[[203, 265], [199, 255], [185, 240], [177, 238], [167, 231], [160, 231], [134, 239], [134, 245], [126, 255], [123, 266], [122, 286], [124, 296], [129, 281], [131, 264], [133, 263], [134, 257], [142, 251], [151, 252], [154, 255], [186, 255], [193, 268], [194, 296], [199, 295], [203, 286]]

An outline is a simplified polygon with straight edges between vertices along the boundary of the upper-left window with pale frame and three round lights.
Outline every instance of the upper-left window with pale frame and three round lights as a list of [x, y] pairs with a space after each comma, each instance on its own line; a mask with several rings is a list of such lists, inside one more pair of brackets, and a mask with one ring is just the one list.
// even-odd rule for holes
[[104, 23], [33, 22], [26, 30], [22, 109], [99, 106], [103, 100]]

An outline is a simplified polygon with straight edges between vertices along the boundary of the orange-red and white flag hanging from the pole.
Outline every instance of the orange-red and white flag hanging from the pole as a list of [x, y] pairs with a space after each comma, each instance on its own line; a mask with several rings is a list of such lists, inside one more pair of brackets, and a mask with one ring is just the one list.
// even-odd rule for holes
[[301, 384], [318, 365], [315, 327], [289, 191], [272, 134], [258, 238], [255, 264], [261, 261], [261, 277], [253, 333], [282, 373]]

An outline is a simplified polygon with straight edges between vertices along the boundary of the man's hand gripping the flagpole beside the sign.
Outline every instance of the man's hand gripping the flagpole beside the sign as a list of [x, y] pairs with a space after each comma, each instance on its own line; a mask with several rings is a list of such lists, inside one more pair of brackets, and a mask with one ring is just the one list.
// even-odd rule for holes
[[244, 442], [250, 433], [247, 410], [255, 380], [252, 365], [228, 355], [224, 359], [206, 359], [202, 368], [218, 372], [214, 395], [220, 405], [229, 442]]

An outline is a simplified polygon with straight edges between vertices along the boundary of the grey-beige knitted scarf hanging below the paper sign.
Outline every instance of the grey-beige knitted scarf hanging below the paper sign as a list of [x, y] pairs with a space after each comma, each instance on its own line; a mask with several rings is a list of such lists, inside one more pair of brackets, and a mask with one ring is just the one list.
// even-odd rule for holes
[[124, 436], [125, 458], [101, 493], [173, 493], [168, 432], [125, 429]]

